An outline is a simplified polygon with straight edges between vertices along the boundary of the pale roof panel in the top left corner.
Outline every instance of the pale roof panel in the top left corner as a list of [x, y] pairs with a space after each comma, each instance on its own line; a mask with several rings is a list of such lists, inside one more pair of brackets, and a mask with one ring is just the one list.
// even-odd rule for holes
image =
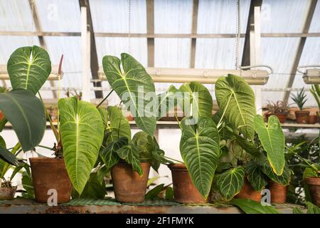
[[28, 0], [0, 0], [0, 31], [35, 31]]

